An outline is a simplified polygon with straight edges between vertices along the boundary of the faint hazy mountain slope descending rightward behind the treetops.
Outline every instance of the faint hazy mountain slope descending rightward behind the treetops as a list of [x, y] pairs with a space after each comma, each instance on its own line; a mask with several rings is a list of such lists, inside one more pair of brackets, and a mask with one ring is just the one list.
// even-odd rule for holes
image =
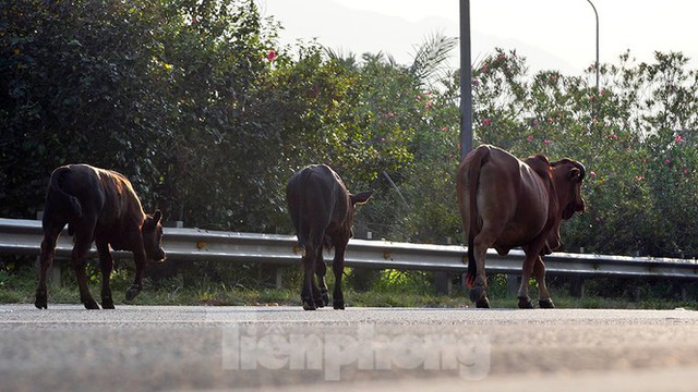
[[[293, 44], [298, 39], [317, 41], [340, 53], [383, 52], [393, 56], [398, 63], [411, 64], [416, 47], [428, 36], [440, 33], [459, 36], [458, 22], [430, 16], [419, 22], [410, 22], [397, 16], [388, 16], [371, 11], [352, 10], [326, 0], [284, 0], [262, 3], [263, 15], [273, 15], [281, 22], [282, 44]], [[579, 75], [583, 69], [575, 68], [565, 59], [539, 47], [518, 40], [503, 40], [494, 36], [471, 32], [471, 58], [474, 63], [495, 48], [516, 49], [527, 58], [530, 72], [558, 70], [566, 74]], [[589, 64], [592, 63], [590, 59]], [[453, 68], [459, 66], [459, 51], [454, 51]]]

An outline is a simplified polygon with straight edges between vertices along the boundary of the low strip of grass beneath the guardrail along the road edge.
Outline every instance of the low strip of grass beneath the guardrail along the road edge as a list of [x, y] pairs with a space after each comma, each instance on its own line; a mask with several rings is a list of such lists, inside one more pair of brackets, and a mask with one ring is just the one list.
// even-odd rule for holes
[[[63, 262], [60, 282], [49, 284], [49, 307], [51, 304], [81, 304], [72, 269]], [[209, 268], [210, 266], [196, 266]], [[236, 268], [233, 268], [236, 269]], [[347, 271], [349, 281], [354, 271]], [[284, 270], [281, 286], [269, 281], [257, 281], [249, 274], [227, 271], [221, 280], [212, 280], [202, 271], [183, 271], [176, 277], [146, 279], [145, 289], [133, 301], [124, 299], [125, 290], [132, 283], [133, 269], [122, 266], [112, 275], [115, 304], [119, 305], [192, 305], [192, 306], [297, 306], [300, 308], [301, 271], [293, 268]], [[89, 289], [99, 293], [100, 275], [91, 269]], [[196, 277], [195, 279], [191, 279]], [[230, 279], [237, 277], [238, 280]], [[434, 290], [434, 275], [425, 272], [386, 270], [375, 272], [371, 287], [358, 290], [345, 285], [345, 297], [349, 307], [428, 307], [459, 308], [472, 307], [468, 292], [455, 282], [447, 294]], [[33, 306], [37, 272], [35, 268], [21, 267], [11, 272], [0, 271], [0, 303], [27, 304]], [[348, 285], [348, 287], [347, 287]], [[328, 286], [334, 287], [334, 278], [328, 275]], [[688, 295], [682, 299], [677, 287], [667, 282], [624, 281], [622, 285], [607, 280], [590, 280], [582, 297], [569, 294], [569, 282], [551, 279], [549, 286], [558, 308], [606, 308], [606, 309], [696, 309], [695, 298], [698, 287], [690, 286]], [[623, 286], [625, 289], [618, 290]], [[490, 277], [488, 290], [494, 308], [518, 308], [516, 295], [508, 291], [506, 277]], [[531, 282], [531, 297], [535, 298], [535, 282]], [[332, 309], [332, 307], [329, 307]]]

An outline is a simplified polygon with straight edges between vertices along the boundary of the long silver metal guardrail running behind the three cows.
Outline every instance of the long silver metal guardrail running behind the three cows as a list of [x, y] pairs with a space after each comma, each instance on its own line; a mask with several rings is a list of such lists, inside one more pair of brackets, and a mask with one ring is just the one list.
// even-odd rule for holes
[[[170, 260], [217, 260], [264, 262], [292, 266], [300, 262], [296, 236], [219, 232], [188, 228], [165, 228], [164, 248]], [[0, 254], [40, 254], [41, 222], [36, 220], [0, 218]], [[56, 255], [70, 257], [72, 240], [60, 236]], [[92, 256], [96, 257], [93, 246]], [[115, 252], [115, 258], [130, 258], [129, 252]], [[429, 245], [387, 241], [351, 240], [346, 254], [347, 267], [368, 269], [404, 269], [441, 272], [464, 272], [466, 247], [459, 245]], [[326, 260], [332, 254], [325, 255]], [[507, 256], [488, 253], [489, 273], [518, 274], [524, 252], [514, 249]], [[466, 261], [466, 262], [464, 262]], [[555, 253], [545, 257], [547, 274], [580, 278], [667, 278], [693, 280], [698, 278], [696, 260], [604, 256]]]

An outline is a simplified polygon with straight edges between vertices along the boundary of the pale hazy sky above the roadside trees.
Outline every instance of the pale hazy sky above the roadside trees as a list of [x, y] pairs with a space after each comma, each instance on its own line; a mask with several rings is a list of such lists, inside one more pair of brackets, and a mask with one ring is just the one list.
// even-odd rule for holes
[[[285, 26], [284, 42], [317, 40], [345, 53], [383, 51], [409, 64], [434, 32], [459, 35], [459, 0], [257, 0]], [[599, 12], [600, 60], [626, 50], [639, 61], [682, 51], [698, 69], [698, 1], [592, 0]], [[532, 71], [580, 75], [595, 59], [595, 19], [587, 0], [470, 0], [473, 61], [494, 48], [516, 49]], [[455, 63], [458, 52], [454, 53]]]

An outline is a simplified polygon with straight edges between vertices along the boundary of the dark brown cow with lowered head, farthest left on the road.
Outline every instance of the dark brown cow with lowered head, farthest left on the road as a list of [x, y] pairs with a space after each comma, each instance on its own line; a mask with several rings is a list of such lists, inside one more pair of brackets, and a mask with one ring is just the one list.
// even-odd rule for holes
[[68, 164], [51, 173], [46, 193], [41, 225], [39, 284], [36, 290], [37, 308], [47, 308], [46, 273], [56, 255], [56, 242], [68, 224], [73, 236], [72, 266], [80, 287], [80, 301], [87, 309], [99, 309], [89, 294], [85, 266], [93, 241], [99, 254], [101, 269], [101, 307], [113, 309], [109, 279], [113, 269], [111, 248], [133, 252], [135, 280], [128, 289], [127, 301], [132, 301], [143, 289], [146, 257], [165, 260], [161, 212], [143, 212], [141, 200], [131, 182], [120, 173], [88, 164]]

